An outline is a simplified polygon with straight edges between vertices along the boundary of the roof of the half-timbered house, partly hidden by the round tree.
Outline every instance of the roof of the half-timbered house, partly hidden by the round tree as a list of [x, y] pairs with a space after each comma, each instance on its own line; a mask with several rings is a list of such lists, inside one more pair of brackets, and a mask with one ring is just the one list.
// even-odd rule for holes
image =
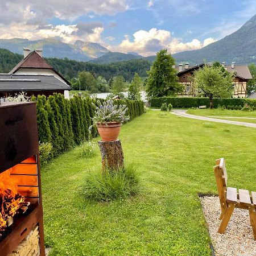
[[[179, 72], [179, 66], [176, 66], [177, 70], [177, 76], [182, 75], [183, 73], [195, 71], [196, 69], [202, 68], [205, 64], [200, 64], [200, 65], [195, 65], [195, 66], [188, 66], [187, 69], [183, 69], [182, 71]], [[225, 65], [224, 66], [228, 72], [236, 72], [236, 77], [240, 77], [241, 79], [253, 79], [251, 77], [250, 70], [248, 66], [246, 65], [234, 65], [234, 68], [231, 67], [231, 65]], [[183, 66], [184, 68], [184, 66]]]

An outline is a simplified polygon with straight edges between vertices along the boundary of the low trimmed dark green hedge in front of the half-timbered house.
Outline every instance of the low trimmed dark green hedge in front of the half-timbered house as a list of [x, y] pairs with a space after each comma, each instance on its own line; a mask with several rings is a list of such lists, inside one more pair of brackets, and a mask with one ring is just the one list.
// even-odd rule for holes
[[[209, 108], [209, 98], [197, 98], [197, 97], [160, 97], [152, 98], [150, 100], [151, 107], [160, 108], [163, 103], [172, 104], [173, 108], [198, 108], [199, 106], [206, 105]], [[218, 105], [225, 106], [243, 106], [248, 104], [256, 107], [256, 100], [248, 98], [213, 98], [213, 108], [217, 108]]]

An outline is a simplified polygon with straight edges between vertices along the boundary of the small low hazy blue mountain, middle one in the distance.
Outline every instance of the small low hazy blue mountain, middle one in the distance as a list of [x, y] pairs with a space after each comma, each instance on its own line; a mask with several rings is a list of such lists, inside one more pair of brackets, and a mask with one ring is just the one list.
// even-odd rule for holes
[[122, 53], [122, 52], [108, 52], [102, 55], [101, 57], [98, 57], [97, 59], [90, 60], [90, 62], [98, 63], [98, 64], [108, 64], [108, 63], [114, 63], [118, 61], [135, 60], [135, 59], [144, 59], [144, 57], [141, 55], [134, 55], [134, 54], [128, 54], [128, 53]]

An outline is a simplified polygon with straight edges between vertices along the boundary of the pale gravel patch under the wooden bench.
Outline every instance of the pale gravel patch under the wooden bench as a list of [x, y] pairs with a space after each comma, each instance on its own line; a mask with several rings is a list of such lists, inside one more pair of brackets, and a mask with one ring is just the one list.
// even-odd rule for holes
[[217, 196], [200, 197], [216, 256], [256, 256], [256, 241], [248, 210], [234, 209], [225, 234], [219, 234], [220, 201]]

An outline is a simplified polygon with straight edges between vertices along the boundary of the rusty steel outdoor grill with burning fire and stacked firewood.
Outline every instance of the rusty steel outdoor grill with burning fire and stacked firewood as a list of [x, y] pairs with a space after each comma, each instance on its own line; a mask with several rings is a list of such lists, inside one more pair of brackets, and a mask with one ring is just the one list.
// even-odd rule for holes
[[[38, 229], [39, 241], [38, 236], [35, 238], [40, 248], [37, 249], [38, 255], [44, 256], [43, 208], [35, 103], [4, 102], [1, 104], [0, 130], [0, 200], [2, 200], [0, 205], [2, 220], [0, 221], [0, 254], [1, 256], [11, 254], [17, 246], [23, 243], [24, 238], [29, 237], [33, 230]], [[1, 183], [1, 181], [5, 182]], [[3, 211], [6, 205], [3, 204], [6, 199], [5, 191], [9, 193], [8, 195], [15, 195], [12, 201], [19, 196], [19, 204], [15, 204], [16, 208], [13, 208], [12, 214], [10, 211], [7, 213]], [[1, 214], [3, 212], [5, 216]], [[13, 224], [5, 225], [3, 220], [6, 218], [11, 219]]]

